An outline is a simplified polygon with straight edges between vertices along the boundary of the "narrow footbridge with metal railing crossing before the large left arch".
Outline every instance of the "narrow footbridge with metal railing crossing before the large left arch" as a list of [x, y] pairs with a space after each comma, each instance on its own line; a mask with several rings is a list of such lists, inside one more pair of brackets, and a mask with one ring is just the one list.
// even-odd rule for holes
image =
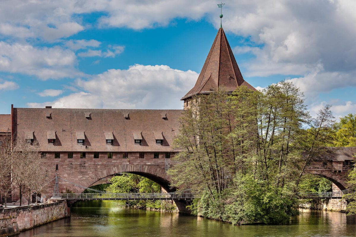
[[60, 193], [67, 200], [182, 200], [193, 199], [193, 193]]

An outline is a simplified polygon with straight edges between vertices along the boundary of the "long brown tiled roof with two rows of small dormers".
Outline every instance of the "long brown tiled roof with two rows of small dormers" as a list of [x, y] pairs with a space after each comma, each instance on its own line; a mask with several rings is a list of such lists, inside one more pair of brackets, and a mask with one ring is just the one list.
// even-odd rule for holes
[[[90, 111], [90, 119], [86, 118]], [[41, 151], [168, 152], [183, 110], [14, 108], [15, 134], [33, 132]], [[51, 113], [47, 118], [46, 114]], [[165, 113], [167, 118], [162, 118]], [[124, 115], [129, 114], [129, 118]], [[134, 136], [142, 134], [141, 144]], [[23, 135], [22, 135], [23, 134]], [[111, 135], [110, 135], [111, 134]], [[84, 144], [77, 139], [85, 136]], [[156, 144], [156, 136], [163, 142]], [[49, 137], [55, 138], [48, 144]], [[106, 139], [114, 138], [111, 144]], [[87, 147], [87, 148], [86, 148]]]

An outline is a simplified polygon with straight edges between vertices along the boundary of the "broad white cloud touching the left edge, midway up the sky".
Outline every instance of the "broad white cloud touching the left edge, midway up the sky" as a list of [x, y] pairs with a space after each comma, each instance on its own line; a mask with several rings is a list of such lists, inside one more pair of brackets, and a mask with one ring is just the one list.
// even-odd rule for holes
[[0, 71], [59, 79], [83, 75], [74, 68], [76, 64], [77, 57], [69, 49], [0, 41]]

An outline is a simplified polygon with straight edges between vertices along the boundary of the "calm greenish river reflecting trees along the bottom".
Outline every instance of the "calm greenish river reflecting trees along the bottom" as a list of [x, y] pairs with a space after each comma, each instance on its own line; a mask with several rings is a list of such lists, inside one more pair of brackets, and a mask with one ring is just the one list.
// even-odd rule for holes
[[301, 210], [289, 225], [233, 226], [177, 213], [128, 209], [115, 201], [73, 205], [72, 216], [36, 227], [18, 237], [262, 237], [356, 236], [355, 216], [331, 211]]

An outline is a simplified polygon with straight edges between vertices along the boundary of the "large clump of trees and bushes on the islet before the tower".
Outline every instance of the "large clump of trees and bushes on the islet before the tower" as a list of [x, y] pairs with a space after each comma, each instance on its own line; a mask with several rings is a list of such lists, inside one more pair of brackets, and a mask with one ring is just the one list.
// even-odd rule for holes
[[[310, 118], [289, 82], [192, 99], [174, 140], [172, 185], [202, 194], [191, 210], [232, 223], [286, 223], [305, 169], [325, 152], [330, 106]], [[307, 129], [308, 128], [308, 129]]]

